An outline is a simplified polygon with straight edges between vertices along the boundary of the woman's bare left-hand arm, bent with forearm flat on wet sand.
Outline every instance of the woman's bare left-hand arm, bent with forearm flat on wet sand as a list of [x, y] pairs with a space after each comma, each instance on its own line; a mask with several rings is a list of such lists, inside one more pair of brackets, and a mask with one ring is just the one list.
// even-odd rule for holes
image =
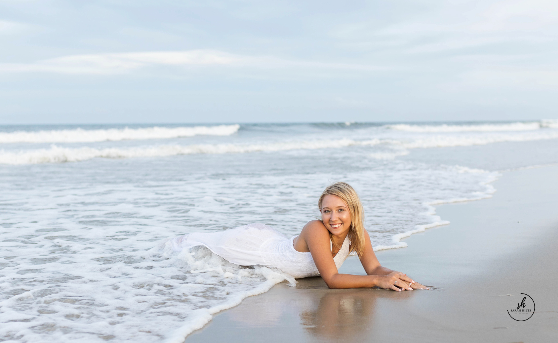
[[[329, 288], [370, 288], [378, 286], [381, 288], [391, 288], [394, 291], [401, 291], [400, 288], [395, 286], [397, 284], [397, 286], [403, 289], [411, 289], [408, 287], [408, 283], [404, 282], [407, 277], [404, 274], [397, 274], [395, 272], [388, 273], [387, 275], [369, 274], [367, 276], [339, 274], [333, 257], [331, 256], [329, 231], [319, 220], [312, 220], [310, 223], [306, 224], [304, 229], [302, 229], [301, 236], [306, 241], [307, 247], [314, 259], [314, 263], [316, 267], [318, 267], [321, 277]], [[376, 256], [374, 256], [374, 258], [375, 257]], [[374, 270], [374, 268], [371, 270]], [[411, 280], [409, 279], [409, 281]]]

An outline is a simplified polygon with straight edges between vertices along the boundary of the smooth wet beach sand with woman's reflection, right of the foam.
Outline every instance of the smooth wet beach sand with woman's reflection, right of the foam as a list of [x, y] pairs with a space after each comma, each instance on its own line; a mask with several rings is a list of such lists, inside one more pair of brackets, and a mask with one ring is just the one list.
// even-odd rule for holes
[[[450, 225], [377, 252], [430, 291], [277, 284], [186, 342], [552, 342], [558, 337], [558, 166], [504, 172], [492, 199], [437, 206]], [[357, 258], [340, 272], [364, 274]], [[529, 294], [533, 316], [507, 310]], [[507, 295], [511, 294], [511, 295]]]

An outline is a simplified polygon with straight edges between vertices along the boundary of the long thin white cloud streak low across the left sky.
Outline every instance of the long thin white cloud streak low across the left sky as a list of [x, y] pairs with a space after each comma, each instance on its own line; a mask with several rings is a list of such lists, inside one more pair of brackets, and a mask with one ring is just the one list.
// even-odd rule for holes
[[273, 56], [245, 56], [219, 50], [149, 51], [117, 54], [89, 54], [56, 57], [33, 63], [2, 63], [3, 72], [50, 72], [61, 74], [123, 74], [156, 66], [236, 66], [256, 68], [306, 67], [319, 69], [382, 70], [385, 67], [360, 64], [292, 61]]

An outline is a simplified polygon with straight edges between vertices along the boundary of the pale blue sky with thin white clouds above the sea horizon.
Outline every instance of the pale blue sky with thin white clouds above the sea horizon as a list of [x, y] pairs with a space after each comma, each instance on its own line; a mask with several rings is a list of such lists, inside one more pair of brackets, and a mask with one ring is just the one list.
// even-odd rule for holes
[[558, 2], [0, 0], [0, 124], [558, 118]]

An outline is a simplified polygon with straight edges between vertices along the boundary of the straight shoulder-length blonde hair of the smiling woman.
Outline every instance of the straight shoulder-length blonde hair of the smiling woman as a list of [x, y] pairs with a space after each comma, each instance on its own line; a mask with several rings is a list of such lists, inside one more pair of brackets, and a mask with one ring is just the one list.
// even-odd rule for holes
[[[321, 212], [321, 203], [326, 195], [338, 196], [349, 207], [351, 224], [349, 228], [350, 250], [349, 253], [356, 252], [358, 257], [362, 257], [364, 253], [364, 209], [357, 192], [346, 182], [335, 182], [329, 185], [320, 195], [318, 200], [318, 209]], [[333, 236], [329, 233], [330, 238]], [[333, 239], [331, 239], [334, 242]], [[333, 243], [335, 249], [339, 249], [339, 245]]]

